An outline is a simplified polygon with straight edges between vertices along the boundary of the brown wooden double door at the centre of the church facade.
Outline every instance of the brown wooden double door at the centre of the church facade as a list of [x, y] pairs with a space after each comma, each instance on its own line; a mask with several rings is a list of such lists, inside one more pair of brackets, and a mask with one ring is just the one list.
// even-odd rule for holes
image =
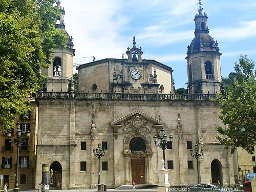
[[132, 182], [145, 184], [145, 159], [131, 159]]

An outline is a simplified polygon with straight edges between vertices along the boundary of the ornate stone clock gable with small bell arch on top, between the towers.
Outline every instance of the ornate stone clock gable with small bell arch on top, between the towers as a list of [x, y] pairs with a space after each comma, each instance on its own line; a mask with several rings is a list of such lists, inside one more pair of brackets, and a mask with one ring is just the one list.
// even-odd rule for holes
[[127, 59], [121, 62], [121, 72], [116, 74], [114, 70], [112, 88], [115, 93], [157, 93], [156, 70], [153, 74], [148, 72], [148, 62], [142, 59], [143, 51], [136, 47], [133, 37], [133, 48], [127, 48]]

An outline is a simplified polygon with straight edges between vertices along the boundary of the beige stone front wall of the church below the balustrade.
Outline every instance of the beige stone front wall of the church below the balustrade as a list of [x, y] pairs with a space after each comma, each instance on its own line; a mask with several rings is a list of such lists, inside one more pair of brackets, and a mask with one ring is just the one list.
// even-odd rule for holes
[[[108, 188], [131, 183], [131, 159], [145, 159], [145, 183], [157, 184], [157, 171], [161, 166], [163, 152], [155, 146], [153, 136], [163, 127], [167, 135], [174, 137], [173, 149], [166, 150], [165, 159], [173, 161], [169, 170], [172, 185], [197, 183], [197, 163], [187, 149], [187, 141], [193, 145], [199, 141], [204, 148], [200, 158], [201, 181], [211, 180], [211, 162], [218, 159], [222, 166], [223, 184], [232, 184], [233, 169], [230, 155], [215, 138], [219, 109], [211, 101], [102, 101], [102, 100], [38, 100], [38, 147], [37, 182], [41, 164], [58, 161], [62, 166], [62, 188], [94, 188], [98, 182], [98, 159], [92, 149], [102, 141], [108, 142], [108, 150], [100, 159], [108, 161], [108, 171], [102, 171], [100, 181]], [[134, 115], [141, 116], [147, 126], [139, 130], [125, 128]], [[179, 115], [178, 115], [179, 114]], [[178, 124], [178, 116], [180, 122]], [[96, 133], [92, 133], [92, 121]], [[146, 153], [130, 153], [132, 137], [143, 138], [148, 146]], [[80, 150], [80, 142], [87, 143], [87, 150]], [[128, 148], [127, 148], [128, 147]], [[80, 171], [80, 162], [87, 162], [87, 171]], [[187, 168], [193, 161], [193, 169]], [[100, 166], [101, 169], [101, 166]]]

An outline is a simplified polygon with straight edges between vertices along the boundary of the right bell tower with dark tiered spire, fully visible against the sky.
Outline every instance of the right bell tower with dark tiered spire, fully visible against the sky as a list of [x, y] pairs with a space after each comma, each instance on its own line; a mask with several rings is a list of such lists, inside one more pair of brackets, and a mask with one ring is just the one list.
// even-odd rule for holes
[[215, 94], [221, 88], [221, 67], [218, 42], [209, 35], [207, 15], [199, 9], [195, 21], [195, 38], [187, 46], [187, 74], [189, 94]]

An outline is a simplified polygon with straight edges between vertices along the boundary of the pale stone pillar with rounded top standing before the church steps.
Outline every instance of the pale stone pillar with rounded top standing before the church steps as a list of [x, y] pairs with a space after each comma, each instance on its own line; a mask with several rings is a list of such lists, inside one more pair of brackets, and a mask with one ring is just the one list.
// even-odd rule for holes
[[157, 191], [158, 192], [168, 192], [168, 187], [170, 186], [169, 179], [168, 179], [168, 170], [164, 168], [164, 160], [161, 159], [162, 169], [158, 171], [158, 185]]

